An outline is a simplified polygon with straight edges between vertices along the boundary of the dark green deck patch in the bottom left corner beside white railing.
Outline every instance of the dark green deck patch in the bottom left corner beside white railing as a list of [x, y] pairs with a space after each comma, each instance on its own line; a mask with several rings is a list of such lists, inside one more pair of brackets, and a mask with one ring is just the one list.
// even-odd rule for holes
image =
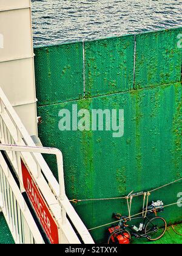
[[0, 244], [14, 244], [13, 237], [8, 229], [4, 216], [0, 213]]

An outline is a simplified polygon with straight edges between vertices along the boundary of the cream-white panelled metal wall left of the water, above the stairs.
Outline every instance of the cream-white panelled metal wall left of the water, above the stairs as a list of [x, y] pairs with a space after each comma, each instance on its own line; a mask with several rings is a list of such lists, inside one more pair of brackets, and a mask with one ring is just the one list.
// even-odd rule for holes
[[37, 135], [30, 0], [0, 0], [1, 87], [30, 135]]

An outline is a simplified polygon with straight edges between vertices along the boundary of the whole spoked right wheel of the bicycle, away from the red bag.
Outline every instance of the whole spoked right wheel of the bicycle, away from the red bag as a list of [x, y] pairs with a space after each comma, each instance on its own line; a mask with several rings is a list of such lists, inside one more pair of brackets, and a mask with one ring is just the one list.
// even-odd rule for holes
[[155, 217], [147, 222], [145, 227], [145, 234], [149, 241], [156, 241], [160, 239], [166, 232], [167, 224], [165, 219], [161, 217]]

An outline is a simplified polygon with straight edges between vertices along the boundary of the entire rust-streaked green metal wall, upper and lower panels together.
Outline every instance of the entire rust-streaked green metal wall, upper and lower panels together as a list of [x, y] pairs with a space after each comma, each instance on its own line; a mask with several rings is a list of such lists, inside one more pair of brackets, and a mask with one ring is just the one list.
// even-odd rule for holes
[[[171, 29], [35, 49], [39, 137], [44, 146], [61, 149], [70, 199], [125, 196], [182, 176], [180, 33]], [[59, 110], [71, 110], [72, 104], [78, 110], [124, 109], [124, 136], [59, 131]], [[47, 160], [57, 177], [55, 160]], [[179, 182], [155, 191], [150, 201], [177, 202], [180, 191]], [[142, 205], [143, 197], [133, 199], [132, 214]], [[75, 208], [89, 229], [111, 222], [113, 212], [127, 215], [124, 200], [79, 202]], [[180, 222], [182, 208], [166, 208], [163, 216]], [[104, 241], [106, 229], [92, 231], [93, 238]]]

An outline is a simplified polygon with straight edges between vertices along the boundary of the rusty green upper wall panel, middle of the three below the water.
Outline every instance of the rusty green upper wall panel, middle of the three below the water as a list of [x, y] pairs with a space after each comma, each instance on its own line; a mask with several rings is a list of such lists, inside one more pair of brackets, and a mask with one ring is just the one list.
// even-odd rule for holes
[[87, 97], [133, 87], [134, 46], [134, 35], [85, 43]]

